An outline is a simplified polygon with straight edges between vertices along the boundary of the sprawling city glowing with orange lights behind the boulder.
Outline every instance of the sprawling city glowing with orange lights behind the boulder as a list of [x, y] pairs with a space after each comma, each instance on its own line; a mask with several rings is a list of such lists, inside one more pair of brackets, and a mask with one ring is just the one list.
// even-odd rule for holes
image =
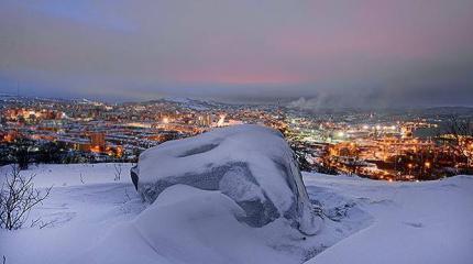
[[275, 106], [227, 105], [196, 110], [166, 100], [122, 106], [33, 101], [28, 106], [3, 109], [2, 142], [12, 147], [21, 139], [53, 142], [69, 155], [96, 161], [134, 161], [143, 150], [168, 140], [254, 123], [283, 132], [300, 163], [308, 164], [302, 169], [308, 170], [414, 180], [441, 177], [451, 172], [449, 167], [460, 170], [473, 166], [471, 136], [459, 138], [458, 147], [453, 147], [446, 144], [455, 140], [451, 134], [436, 140], [414, 134], [437, 127], [427, 119], [393, 120], [388, 114], [374, 119], [377, 114], [367, 123], [363, 112], [320, 117]]

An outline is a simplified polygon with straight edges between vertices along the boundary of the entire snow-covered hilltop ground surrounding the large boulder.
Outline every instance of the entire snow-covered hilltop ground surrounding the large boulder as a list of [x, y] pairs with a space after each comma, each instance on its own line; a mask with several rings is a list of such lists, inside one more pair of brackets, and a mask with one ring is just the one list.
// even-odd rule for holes
[[[130, 165], [123, 165], [123, 172]], [[2, 179], [8, 167], [2, 167]], [[252, 228], [218, 191], [177, 185], [145, 207], [112, 164], [41, 165], [38, 187], [54, 185], [31, 219], [51, 222], [0, 231], [7, 263], [471, 263], [473, 177], [426, 183], [304, 174], [324, 208], [315, 237]], [[82, 179], [80, 179], [82, 178]], [[142, 213], [141, 213], [142, 212]], [[136, 216], [141, 216], [138, 218]], [[152, 217], [151, 217], [152, 216]], [[151, 226], [154, 233], [143, 233]], [[146, 228], [145, 230], [151, 230]], [[157, 239], [156, 239], [157, 238]]]

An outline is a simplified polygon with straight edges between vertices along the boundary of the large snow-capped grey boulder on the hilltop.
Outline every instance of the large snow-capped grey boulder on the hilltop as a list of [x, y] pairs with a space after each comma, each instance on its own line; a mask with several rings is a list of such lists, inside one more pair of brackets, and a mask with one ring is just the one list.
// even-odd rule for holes
[[268, 128], [235, 125], [166, 142], [141, 154], [131, 174], [148, 202], [183, 184], [220, 190], [243, 209], [238, 220], [251, 227], [284, 218], [302, 233], [315, 234], [321, 226], [294, 153], [283, 135]]

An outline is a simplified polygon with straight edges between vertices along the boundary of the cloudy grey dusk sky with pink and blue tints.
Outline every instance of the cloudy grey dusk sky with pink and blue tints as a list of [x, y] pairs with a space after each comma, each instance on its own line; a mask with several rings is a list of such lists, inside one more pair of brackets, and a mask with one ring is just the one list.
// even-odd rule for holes
[[472, 0], [0, 1], [0, 92], [473, 106]]

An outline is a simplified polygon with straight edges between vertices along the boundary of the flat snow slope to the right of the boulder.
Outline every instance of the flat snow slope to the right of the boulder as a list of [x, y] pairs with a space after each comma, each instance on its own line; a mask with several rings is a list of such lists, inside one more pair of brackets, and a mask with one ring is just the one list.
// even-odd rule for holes
[[375, 220], [308, 263], [473, 263], [473, 176], [393, 184], [306, 174], [305, 183], [351, 197]]

